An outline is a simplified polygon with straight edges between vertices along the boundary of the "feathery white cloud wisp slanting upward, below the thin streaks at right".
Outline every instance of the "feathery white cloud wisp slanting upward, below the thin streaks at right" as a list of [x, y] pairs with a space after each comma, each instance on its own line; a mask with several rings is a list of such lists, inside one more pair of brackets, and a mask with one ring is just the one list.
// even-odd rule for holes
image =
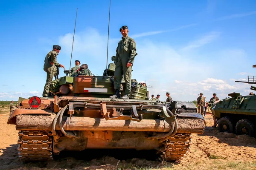
[[195, 40], [193, 42], [190, 42], [189, 45], [186, 47], [182, 48], [182, 50], [191, 50], [193, 48], [199, 48], [203, 45], [206, 45], [213, 40], [217, 39], [220, 36], [220, 32], [212, 31], [209, 32], [208, 34], [204, 35], [203, 37], [199, 38], [198, 40]]

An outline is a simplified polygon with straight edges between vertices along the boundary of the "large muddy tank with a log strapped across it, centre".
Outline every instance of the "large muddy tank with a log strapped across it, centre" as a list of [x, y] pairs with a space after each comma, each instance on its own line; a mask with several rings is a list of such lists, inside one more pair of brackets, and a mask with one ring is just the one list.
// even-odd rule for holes
[[148, 100], [147, 85], [135, 79], [130, 99], [110, 99], [113, 71], [110, 63], [103, 76], [61, 77], [52, 82], [52, 97], [19, 98], [7, 124], [19, 130], [20, 160], [46, 161], [63, 150], [90, 148], [155, 150], [166, 161], [182, 158], [191, 134], [204, 133], [195, 105]]

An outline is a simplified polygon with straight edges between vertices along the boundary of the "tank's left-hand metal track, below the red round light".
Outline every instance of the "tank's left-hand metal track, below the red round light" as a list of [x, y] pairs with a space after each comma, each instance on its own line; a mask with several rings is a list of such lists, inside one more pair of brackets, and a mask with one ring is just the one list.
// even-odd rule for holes
[[52, 133], [47, 131], [20, 131], [18, 155], [21, 161], [52, 160]]

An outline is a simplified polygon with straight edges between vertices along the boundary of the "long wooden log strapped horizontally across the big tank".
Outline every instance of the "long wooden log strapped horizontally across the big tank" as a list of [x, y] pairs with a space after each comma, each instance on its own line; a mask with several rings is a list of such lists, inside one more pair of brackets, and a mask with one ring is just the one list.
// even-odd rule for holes
[[[16, 117], [17, 130], [52, 130], [55, 115], [18, 115]], [[203, 133], [204, 121], [194, 118], [177, 118], [177, 133]], [[113, 131], [151, 131], [169, 132], [171, 125], [165, 120], [143, 119], [140, 122], [129, 120], [105, 120], [90, 117], [63, 117], [64, 130], [113, 130]], [[56, 130], [60, 130], [57, 122]]]

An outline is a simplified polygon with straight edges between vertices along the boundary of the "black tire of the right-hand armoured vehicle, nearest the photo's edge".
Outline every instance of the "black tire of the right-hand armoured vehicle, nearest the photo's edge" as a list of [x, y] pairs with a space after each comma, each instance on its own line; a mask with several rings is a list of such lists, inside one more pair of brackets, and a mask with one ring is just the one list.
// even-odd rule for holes
[[236, 133], [238, 135], [254, 136], [255, 126], [248, 119], [241, 119], [236, 123]]

